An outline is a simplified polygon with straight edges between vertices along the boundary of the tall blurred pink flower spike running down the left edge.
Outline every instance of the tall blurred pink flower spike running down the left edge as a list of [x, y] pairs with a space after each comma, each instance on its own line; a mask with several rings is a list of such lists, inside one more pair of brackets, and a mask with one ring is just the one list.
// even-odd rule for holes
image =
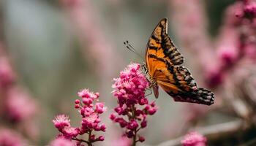
[[17, 85], [16, 80], [11, 59], [4, 43], [0, 41], [1, 126], [18, 128], [14, 130], [26, 135], [28, 139], [37, 140], [38, 128], [33, 119], [38, 108], [37, 101], [22, 86]]

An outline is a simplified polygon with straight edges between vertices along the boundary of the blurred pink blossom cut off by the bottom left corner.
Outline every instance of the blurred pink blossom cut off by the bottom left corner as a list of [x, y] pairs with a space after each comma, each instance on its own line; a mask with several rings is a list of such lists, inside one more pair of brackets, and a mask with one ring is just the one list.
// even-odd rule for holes
[[1, 146], [26, 146], [26, 140], [16, 131], [7, 128], [0, 128]]

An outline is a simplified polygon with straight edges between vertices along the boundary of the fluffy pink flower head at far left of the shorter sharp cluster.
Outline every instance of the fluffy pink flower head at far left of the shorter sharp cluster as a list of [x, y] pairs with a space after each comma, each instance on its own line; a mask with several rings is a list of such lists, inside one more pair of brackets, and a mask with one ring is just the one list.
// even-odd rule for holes
[[53, 120], [54, 126], [61, 131], [64, 127], [70, 126], [70, 120], [67, 115], [57, 115]]

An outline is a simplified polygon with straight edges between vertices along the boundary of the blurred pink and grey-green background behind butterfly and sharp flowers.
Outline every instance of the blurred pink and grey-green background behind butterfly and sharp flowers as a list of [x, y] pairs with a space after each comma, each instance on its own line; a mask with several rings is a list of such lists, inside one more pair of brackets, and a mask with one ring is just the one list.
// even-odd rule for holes
[[146, 142], [140, 145], [176, 145], [191, 130], [206, 135], [210, 145], [255, 142], [256, 20], [249, 11], [253, 4], [0, 1], [0, 135], [48, 145], [58, 134], [52, 123], [55, 115], [67, 114], [72, 125], [80, 124], [74, 100], [80, 89], [89, 88], [99, 92], [108, 107], [102, 117], [108, 126], [102, 143], [111, 145], [121, 136], [121, 128], [108, 118], [116, 106], [113, 78], [131, 61], [143, 62], [123, 42], [129, 40], [144, 55], [154, 27], [167, 18], [168, 34], [184, 55], [184, 66], [216, 99], [210, 107], [178, 103], [160, 89], [159, 110], [148, 119], [142, 131]]

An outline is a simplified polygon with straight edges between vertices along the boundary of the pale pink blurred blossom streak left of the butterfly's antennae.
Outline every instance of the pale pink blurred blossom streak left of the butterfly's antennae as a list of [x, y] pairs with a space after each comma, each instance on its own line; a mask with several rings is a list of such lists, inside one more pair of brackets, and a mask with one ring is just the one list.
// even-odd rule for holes
[[105, 82], [108, 82], [115, 70], [113, 58], [119, 63], [121, 58], [118, 52], [113, 50], [114, 47], [105, 30], [99, 25], [101, 18], [97, 8], [92, 1], [59, 0], [59, 3], [67, 12], [72, 30], [78, 35], [85, 60], [93, 64], [91, 69], [95, 69], [94, 72], [102, 82], [102, 88], [105, 88]]

